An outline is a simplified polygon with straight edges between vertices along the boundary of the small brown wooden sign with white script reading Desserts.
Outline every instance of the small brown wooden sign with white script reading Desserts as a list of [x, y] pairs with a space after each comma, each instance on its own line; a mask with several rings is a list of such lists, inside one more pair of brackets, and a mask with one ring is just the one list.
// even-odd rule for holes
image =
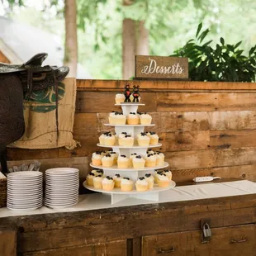
[[187, 79], [188, 59], [136, 55], [135, 78]]

